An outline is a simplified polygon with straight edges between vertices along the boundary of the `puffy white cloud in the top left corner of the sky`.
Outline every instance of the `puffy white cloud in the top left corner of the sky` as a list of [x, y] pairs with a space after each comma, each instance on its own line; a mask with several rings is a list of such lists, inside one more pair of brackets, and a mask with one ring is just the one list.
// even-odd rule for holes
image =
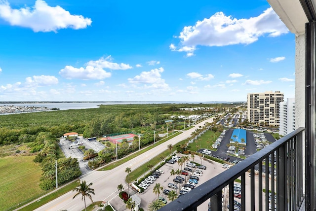
[[60, 6], [49, 6], [43, 0], [36, 0], [33, 7], [12, 9], [7, 0], [0, 0], [0, 18], [12, 26], [31, 28], [34, 32], [57, 32], [60, 29], [84, 29], [90, 26], [90, 18], [71, 15]]

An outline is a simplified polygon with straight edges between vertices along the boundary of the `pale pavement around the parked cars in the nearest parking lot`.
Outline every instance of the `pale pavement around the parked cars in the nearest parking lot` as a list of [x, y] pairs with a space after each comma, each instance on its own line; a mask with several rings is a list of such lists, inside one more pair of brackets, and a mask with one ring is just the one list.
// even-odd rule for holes
[[[184, 155], [181, 155], [181, 154], [177, 154], [177, 155], [180, 156], [180, 157], [184, 156]], [[191, 156], [189, 156], [189, 157], [191, 157]], [[198, 156], [195, 156], [194, 161], [196, 163], [200, 163], [201, 160], [200, 160], [200, 158]], [[222, 173], [223, 171], [226, 170], [226, 169], [222, 168], [221, 164], [216, 163], [216, 162], [212, 162], [212, 161], [209, 161], [209, 160], [202, 160], [202, 165], [206, 166], [206, 170], [202, 170], [203, 171], [203, 176], [198, 176], [199, 180], [198, 180], [197, 186], [202, 184], [202, 183], [204, 183], [208, 179], [210, 179], [210, 178], [212, 178], [214, 176], [217, 176], [218, 174], [220, 174], [220, 173]], [[182, 169], [184, 169], [185, 167], [186, 167], [185, 165], [182, 165]], [[157, 194], [155, 194], [153, 192], [153, 189], [154, 189], [156, 183], [160, 183], [160, 186], [163, 187], [163, 190], [165, 190], [165, 189], [168, 189], [170, 191], [173, 190], [173, 189], [168, 187], [168, 183], [174, 183], [173, 182], [173, 178], [174, 177], [171, 176], [171, 174], [170, 174], [172, 169], [174, 169], [174, 170], [180, 169], [181, 170], [181, 166], [179, 166], [178, 162], [176, 162], [174, 164], [166, 163], [165, 165], [163, 165], [160, 168], [160, 170], [162, 170], [164, 172], [164, 174], [161, 174], [159, 176], [159, 178], [157, 178], [156, 181], [154, 181], [154, 183], [150, 184], [148, 186], [148, 188], [143, 193], [139, 194], [139, 196], [142, 199], [141, 207], [144, 208], [144, 210], [147, 210], [148, 205], [158, 198]], [[197, 169], [197, 168], [195, 168], [195, 169]], [[192, 175], [192, 173], [189, 174], [189, 177], [191, 175]], [[176, 176], [177, 175], [175, 175], [175, 177]], [[183, 175], [183, 177], [185, 177], [185, 176]], [[188, 178], [188, 176], [186, 176], [186, 178]], [[188, 179], [186, 179], [186, 181], [188, 181]], [[186, 182], [184, 181], [182, 184], [185, 184], [185, 183]], [[179, 190], [181, 190], [182, 186], [181, 186], [181, 184], [178, 184], [178, 183], [175, 183], [175, 184], [178, 186], [177, 194], [179, 194]], [[162, 192], [163, 191], [161, 191], [159, 196], [162, 196], [169, 203], [167, 195], [164, 195]], [[200, 205], [198, 210], [207, 211], [207, 209], [208, 209], [207, 206], [208, 206], [208, 201], [206, 201], [202, 205]]]

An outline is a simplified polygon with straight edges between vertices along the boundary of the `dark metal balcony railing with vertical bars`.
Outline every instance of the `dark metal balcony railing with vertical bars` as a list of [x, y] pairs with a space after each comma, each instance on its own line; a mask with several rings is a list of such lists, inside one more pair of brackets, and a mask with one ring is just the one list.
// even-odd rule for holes
[[209, 211], [227, 210], [228, 205], [229, 210], [234, 211], [234, 201], [239, 201], [234, 197], [237, 193], [234, 193], [234, 184], [237, 183], [241, 190], [241, 211], [300, 210], [305, 200], [303, 138], [304, 128], [293, 131], [233, 168], [198, 185], [160, 211], [204, 211], [205, 203], [210, 206]]

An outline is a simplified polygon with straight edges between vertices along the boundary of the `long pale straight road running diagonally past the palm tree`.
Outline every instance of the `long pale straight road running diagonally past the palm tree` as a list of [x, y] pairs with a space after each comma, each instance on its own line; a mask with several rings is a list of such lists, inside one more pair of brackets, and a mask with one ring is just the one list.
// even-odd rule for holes
[[[80, 180], [85, 180], [87, 183], [92, 182], [93, 185], [91, 188], [94, 189], [95, 195], [92, 196], [93, 201], [110, 201], [118, 195], [118, 185], [123, 184], [124, 188], [127, 187], [125, 182], [125, 177], [127, 174], [125, 173], [126, 167], [134, 169], [143, 165], [153, 157], [157, 156], [160, 152], [167, 149], [168, 144], [175, 145], [179, 141], [185, 140], [191, 137], [191, 133], [194, 132], [199, 126], [203, 127], [205, 122], [212, 122], [213, 118], [204, 120], [198, 124], [196, 124], [193, 128], [183, 131], [182, 134], [178, 135], [166, 141], [155, 148], [139, 155], [124, 164], [108, 171], [93, 171], [87, 175], [80, 177]], [[81, 201], [81, 197], [77, 197], [73, 199], [75, 195], [74, 192], [70, 191], [64, 194], [61, 197], [41, 206], [36, 209], [36, 211], [80, 211], [84, 209], [84, 203]], [[91, 204], [89, 199], [86, 199], [87, 206]]]

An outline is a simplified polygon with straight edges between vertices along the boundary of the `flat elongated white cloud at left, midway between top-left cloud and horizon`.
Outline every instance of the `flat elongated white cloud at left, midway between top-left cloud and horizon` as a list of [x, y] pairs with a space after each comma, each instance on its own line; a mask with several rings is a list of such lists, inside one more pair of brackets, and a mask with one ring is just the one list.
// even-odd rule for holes
[[92, 66], [87, 66], [85, 68], [66, 66], [59, 71], [59, 74], [67, 79], [104, 79], [111, 77], [111, 72]]

